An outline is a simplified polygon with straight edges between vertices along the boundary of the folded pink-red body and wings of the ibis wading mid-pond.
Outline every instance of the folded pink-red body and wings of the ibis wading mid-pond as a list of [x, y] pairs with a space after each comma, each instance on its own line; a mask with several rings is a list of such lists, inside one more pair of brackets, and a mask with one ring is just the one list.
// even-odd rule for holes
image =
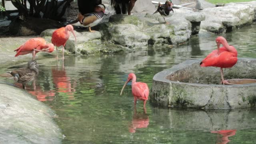
[[139, 99], [142, 100], [148, 100], [149, 90], [148, 85], [146, 83], [136, 82], [132, 89], [134, 96], [137, 96]]

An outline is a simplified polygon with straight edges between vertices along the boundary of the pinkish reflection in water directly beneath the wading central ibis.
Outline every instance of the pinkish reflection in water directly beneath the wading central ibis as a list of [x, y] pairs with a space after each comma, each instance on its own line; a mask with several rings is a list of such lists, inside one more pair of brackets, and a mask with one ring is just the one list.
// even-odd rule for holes
[[146, 108], [143, 113], [137, 113], [134, 108], [134, 115], [132, 116], [132, 125], [129, 127], [130, 133], [135, 133], [137, 128], [147, 128], [149, 124], [149, 118], [146, 114]]

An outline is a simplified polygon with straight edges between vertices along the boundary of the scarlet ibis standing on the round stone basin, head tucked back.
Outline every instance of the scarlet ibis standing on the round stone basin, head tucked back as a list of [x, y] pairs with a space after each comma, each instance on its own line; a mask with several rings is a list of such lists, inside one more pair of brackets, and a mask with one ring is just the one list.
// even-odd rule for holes
[[[222, 36], [219, 36], [218, 38], [216, 38], [216, 44], [218, 49], [212, 51], [208, 56], [206, 56], [206, 58], [202, 60], [200, 65], [202, 67], [206, 67], [206, 66], [220, 67], [222, 83], [230, 84], [224, 80], [222, 68], [231, 68], [236, 64], [237, 62], [236, 48], [234, 48], [234, 46], [228, 45], [227, 40]], [[220, 48], [220, 44], [222, 44], [223, 47]]]

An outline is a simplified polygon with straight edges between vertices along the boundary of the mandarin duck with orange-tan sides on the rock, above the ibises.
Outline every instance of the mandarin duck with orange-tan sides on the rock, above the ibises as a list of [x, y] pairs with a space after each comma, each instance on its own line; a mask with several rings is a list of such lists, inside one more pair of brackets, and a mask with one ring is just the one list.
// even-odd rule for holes
[[78, 14], [78, 22], [72, 24], [74, 26], [83, 26], [83, 27], [89, 27], [89, 32], [95, 32], [94, 30], [91, 30], [92, 26], [96, 26], [100, 23], [100, 21], [103, 19], [103, 15], [105, 13], [106, 6], [104, 4], [99, 4], [94, 8], [94, 12], [84, 14], [81, 13]]

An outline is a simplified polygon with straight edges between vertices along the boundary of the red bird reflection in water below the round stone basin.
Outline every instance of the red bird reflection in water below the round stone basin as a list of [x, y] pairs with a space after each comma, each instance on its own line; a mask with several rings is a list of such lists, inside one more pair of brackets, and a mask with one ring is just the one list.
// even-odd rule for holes
[[234, 136], [236, 134], [236, 130], [218, 130], [218, 131], [211, 131], [211, 133], [218, 134], [216, 144], [227, 144], [228, 142], [230, 142], [228, 137]]

